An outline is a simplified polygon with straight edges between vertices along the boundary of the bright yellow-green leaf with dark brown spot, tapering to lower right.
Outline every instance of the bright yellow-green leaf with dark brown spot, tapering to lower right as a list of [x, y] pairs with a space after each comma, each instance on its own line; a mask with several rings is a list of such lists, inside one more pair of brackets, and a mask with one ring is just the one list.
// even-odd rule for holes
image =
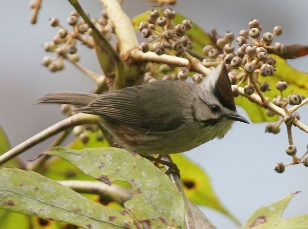
[[[181, 171], [181, 182], [186, 197], [195, 204], [211, 207], [229, 217], [233, 222], [240, 225], [234, 217], [219, 201], [211, 187], [209, 177], [196, 163], [180, 154], [172, 154], [172, 160]], [[189, 168], [189, 169], [187, 169]]]

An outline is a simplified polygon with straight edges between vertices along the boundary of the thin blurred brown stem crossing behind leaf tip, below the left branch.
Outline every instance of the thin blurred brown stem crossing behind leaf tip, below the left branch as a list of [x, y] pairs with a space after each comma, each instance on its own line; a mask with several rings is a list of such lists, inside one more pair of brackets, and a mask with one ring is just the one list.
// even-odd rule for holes
[[[52, 143], [47, 147], [47, 149], [50, 149], [54, 146], [59, 146], [68, 136], [68, 134], [70, 133], [72, 128], [68, 128], [64, 131], [62, 131], [61, 133], [59, 133], [59, 135], [52, 141]], [[46, 149], [46, 150], [47, 150]], [[36, 162], [29, 164], [27, 166], [27, 170], [37, 170], [40, 169], [44, 166], [45, 162], [50, 158], [49, 155], [44, 154], [42, 157], [40, 157], [39, 159], [37, 159]]]

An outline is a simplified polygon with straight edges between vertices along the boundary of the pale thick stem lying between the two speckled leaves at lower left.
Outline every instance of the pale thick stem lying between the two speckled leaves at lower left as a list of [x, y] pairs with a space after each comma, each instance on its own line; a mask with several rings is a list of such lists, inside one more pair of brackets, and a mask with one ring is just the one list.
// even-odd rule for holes
[[68, 186], [78, 193], [96, 194], [123, 204], [133, 196], [133, 190], [117, 184], [105, 184], [100, 181], [64, 180], [58, 183]]

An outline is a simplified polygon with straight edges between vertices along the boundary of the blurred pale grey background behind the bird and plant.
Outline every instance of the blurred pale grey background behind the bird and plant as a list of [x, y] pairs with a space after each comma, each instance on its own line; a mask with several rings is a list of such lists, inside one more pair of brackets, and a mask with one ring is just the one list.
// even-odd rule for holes
[[[101, 7], [98, 1], [80, 2], [91, 16], [99, 17]], [[66, 17], [72, 10], [68, 2], [44, 1], [35, 26], [29, 23], [28, 1], [1, 0], [0, 3], [0, 125], [15, 146], [64, 118], [57, 106], [34, 105], [36, 98], [52, 91], [89, 92], [94, 83], [69, 63], [64, 71], [55, 74], [41, 66], [46, 55], [42, 46], [51, 41], [57, 31], [49, 26], [48, 19], [59, 17], [66, 26]], [[124, 0], [123, 3], [129, 16], [142, 13], [151, 6], [143, 1]], [[275, 41], [307, 45], [306, 0], [182, 0], [174, 9], [204, 30], [215, 27], [220, 34], [227, 30], [237, 33], [240, 29], [247, 29], [248, 21], [258, 18], [263, 31], [272, 31], [276, 25], [284, 28], [283, 34]], [[80, 53], [81, 64], [99, 73], [94, 52], [81, 47]], [[307, 57], [289, 63], [308, 72]], [[239, 111], [245, 116], [245, 111], [240, 108]], [[299, 112], [302, 121], [308, 124], [307, 106]], [[220, 200], [241, 222], [245, 222], [261, 205], [268, 205], [297, 190], [302, 193], [293, 199], [283, 217], [308, 213], [307, 168], [296, 165], [287, 167], [283, 174], [275, 173], [273, 167], [277, 161], [290, 161], [284, 151], [286, 130], [283, 127], [281, 133], [274, 136], [265, 134], [264, 126], [265, 123], [235, 123], [224, 139], [208, 142], [185, 153], [204, 167]], [[308, 143], [307, 134], [295, 129], [294, 140], [302, 154]], [[28, 150], [23, 158], [41, 154], [50, 142], [51, 139]], [[202, 209], [218, 228], [237, 228], [221, 214], [205, 207]]]

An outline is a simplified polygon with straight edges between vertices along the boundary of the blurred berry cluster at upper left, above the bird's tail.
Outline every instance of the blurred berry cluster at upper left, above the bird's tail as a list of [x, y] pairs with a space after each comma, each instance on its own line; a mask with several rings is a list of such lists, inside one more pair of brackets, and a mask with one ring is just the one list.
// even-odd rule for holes
[[[109, 22], [105, 11], [102, 11], [99, 19], [93, 19], [92, 22], [108, 40], [111, 40], [113, 26]], [[63, 62], [65, 59], [74, 63], [80, 60], [76, 47], [77, 40], [88, 48], [94, 48], [93, 37], [91, 36], [92, 29], [89, 28], [88, 24], [85, 23], [76, 11], [72, 11], [69, 14], [67, 23], [72, 27], [72, 31], [60, 25], [59, 19], [54, 17], [50, 19], [50, 25], [52, 27], [59, 27], [60, 29], [51, 42], [44, 44], [44, 50], [47, 52], [55, 52], [57, 55], [54, 58], [49, 55], [45, 56], [42, 64], [52, 72], [63, 70]]]

